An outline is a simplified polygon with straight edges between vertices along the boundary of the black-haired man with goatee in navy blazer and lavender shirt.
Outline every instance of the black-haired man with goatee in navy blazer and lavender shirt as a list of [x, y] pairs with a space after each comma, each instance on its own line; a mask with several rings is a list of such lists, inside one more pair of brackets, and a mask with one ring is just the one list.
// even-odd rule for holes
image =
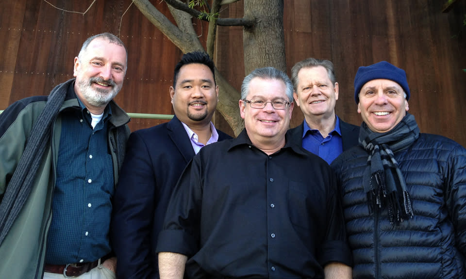
[[113, 202], [117, 278], [159, 278], [155, 248], [178, 178], [202, 146], [231, 138], [211, 122], [218, 85], [207, 54], [183, 55], [175, 67], [170, 97], [173, 119], [133, 132], [127, 143]]

